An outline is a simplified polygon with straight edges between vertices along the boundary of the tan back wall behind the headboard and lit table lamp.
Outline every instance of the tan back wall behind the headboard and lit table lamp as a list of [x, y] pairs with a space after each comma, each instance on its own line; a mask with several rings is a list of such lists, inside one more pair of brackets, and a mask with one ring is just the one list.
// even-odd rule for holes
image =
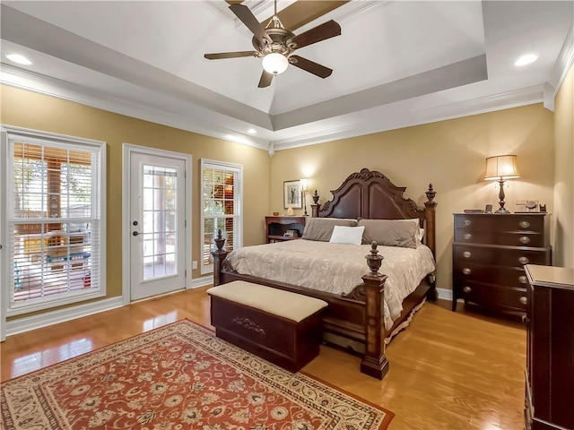
[[283, 181], [305, 176], [320, 202], [330, 200], [329, 191], [361, 168], [378, 170], [395, 185], [406, 186], [405, 196], [420, 205], [432, 183], [439, 203], [438, 287], [451, 288], [452, 214], [483, 209], [486, 203], [498, 208], [499, 186], [483, 180], [484, 159], [502, 154], [517, 155], [522, 175], [507, 182], [507, 208], [516, 211], [516, 199], [535, 199], [552, 212], [552, 112], [542, 104], [277, 151], [271, 164], [271, 211], [285, 212]]

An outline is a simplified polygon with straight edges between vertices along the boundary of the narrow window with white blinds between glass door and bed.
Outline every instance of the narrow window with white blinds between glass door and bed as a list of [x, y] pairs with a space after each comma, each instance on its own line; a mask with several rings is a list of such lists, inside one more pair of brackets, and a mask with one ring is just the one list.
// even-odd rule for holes
[[201, 235], [202, 247], [201, 272], [213, 272], [212, 249], [217, 231], [222, 230], [225, 249], [231, 252], [239, 248], [242, 242], [241, 226], [241, 183], [243, 167], [209, 159], [201, 160], [202, 202]]

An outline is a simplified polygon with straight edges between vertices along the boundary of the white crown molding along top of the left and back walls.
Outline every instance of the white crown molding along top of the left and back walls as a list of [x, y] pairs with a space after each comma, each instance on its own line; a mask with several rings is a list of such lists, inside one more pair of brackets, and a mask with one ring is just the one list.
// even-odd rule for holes
[[[73, 101], [120, 115], [132, 116], [156, 124], [168, 125], [188, 132], [200, 133], [261, 150], [270, 151], [272, 149], [270, 152], [444, 121], [461, 116], [477, 115], [509, 107], [526, 106], [544, 101], [544, 94], [548, 93], [548, 88], [545, 88], [544, 85], [537, 85], [526, 89], [490, 94], [477, 99], [440, 104], [441, 96], [439, 92], [423, 96], [425, 98], [425, 107], [423, 108], [413, 109], [417, 102], [416, 99], [403, 100], [343, 116], [344, 121], [348, 125], [326, 128], [316, 133], [302, 133], [270, 142], [265, 139], [245, 136], [221, 126], [202, 125], [191, 121], [189, 116], [147, 107], [102, 91], [87, 89], [81, 85], [49, 78], [38, 73], [31, 73], [7, 64], [0, 64], [0, 82], [58, 99]], [[381, 112], [384, 112], [384, 114], [381, 114]], [[273, 144], [270, 146], [270, 143]]]

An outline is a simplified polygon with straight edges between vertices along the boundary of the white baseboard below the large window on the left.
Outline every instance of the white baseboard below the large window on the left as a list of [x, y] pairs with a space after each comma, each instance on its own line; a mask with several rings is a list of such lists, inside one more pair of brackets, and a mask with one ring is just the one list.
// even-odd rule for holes
[[40, 329], [52, 324], [64, 323], [65, 321], [75, 320], [83, 316], [99, 314], [100, 312], [109, 311], [121, 306], [123, 306], [122, 297], [117, 296], [86, 303], [84, 305], [65, 307], [57, 311], [25, 316], [17, 320], [6, 322], [6, 336]]

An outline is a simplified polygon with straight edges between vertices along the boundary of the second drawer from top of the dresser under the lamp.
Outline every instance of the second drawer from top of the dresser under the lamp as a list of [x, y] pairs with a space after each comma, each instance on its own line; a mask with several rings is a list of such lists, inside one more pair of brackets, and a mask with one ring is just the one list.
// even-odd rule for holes
[[[501, 215], [503, 216], [503, 215]], [[455, 242], [463, 244], [544, 247], [544, 235], [535, 231], [480, 231], [455, 229]]]

